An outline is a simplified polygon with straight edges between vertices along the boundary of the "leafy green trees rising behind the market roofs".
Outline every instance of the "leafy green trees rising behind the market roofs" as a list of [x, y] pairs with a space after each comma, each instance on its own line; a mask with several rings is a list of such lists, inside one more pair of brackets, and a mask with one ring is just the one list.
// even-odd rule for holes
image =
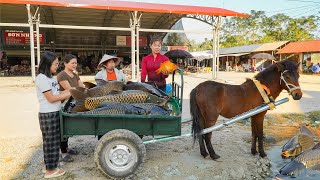
[[[317, 37], [319, 24], [319, 16], [293, 18], [279, 13], [268, 17], [264, 11], [252, 10], [248, 18], [224, 19], [221, 26], [220, 47], [316, 39], [319, 38]], [[189, 43], [189, 49], [196, 51], [212, 49], [212, 40], [200, 44]]]

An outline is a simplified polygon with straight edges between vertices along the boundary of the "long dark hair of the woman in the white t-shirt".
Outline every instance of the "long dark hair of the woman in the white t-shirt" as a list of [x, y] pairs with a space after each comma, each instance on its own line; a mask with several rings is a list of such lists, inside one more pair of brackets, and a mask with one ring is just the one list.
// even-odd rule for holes
[[53, 52], [46, 51], [41, 57], [41, 61], [38, 68], [38, 74], [42, 73], [49, 78], [52, 77], [50, 68], [53, 61], [56, 59], [57, 59], [57, 56]]

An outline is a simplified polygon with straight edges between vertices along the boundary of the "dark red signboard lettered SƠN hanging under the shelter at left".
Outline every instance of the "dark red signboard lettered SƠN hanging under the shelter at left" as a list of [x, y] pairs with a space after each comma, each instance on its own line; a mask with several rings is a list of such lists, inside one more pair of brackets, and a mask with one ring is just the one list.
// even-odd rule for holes
[[[37, 34], [34, 33], [34, 43], [37, 43]], [[40, 44], [45, 43], [44, 32], [39, 33]], [[6, 44], [30, 44], [30, 33], [23, 31], [5, 31], [4, 32], [4, 43]]]

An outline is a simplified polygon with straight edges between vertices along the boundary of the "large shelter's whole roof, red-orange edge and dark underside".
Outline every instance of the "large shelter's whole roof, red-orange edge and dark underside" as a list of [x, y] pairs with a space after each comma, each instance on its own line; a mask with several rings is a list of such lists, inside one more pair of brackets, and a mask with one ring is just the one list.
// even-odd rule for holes
[[[140, 28], [146, 29], [170, 29], [178, 20], [186, 17], [187, 14], [247, 16], [246, 14], [213, 7], [112, 0], [1, 0], [0, 22], [28, 23], [25, 4], [41, 5], [41, 24], [55, 25], [129, 28], [130, 16], [128, 11], [143, 12]], [[35, 6], [33, 6], [32, 11], [34, 12], [35, 9]], [[27, 28], [22, 27], [0, 27], [0, 30], [28, 31]], [[119, 46], [116, 46], [116, 36], [131, 35], [129, 31], [50, 28], [40, 28], [40, 31], [45, 33], [45, 44], [49, 46], [50, 42], [54, 42], [57, 49], [77, 48], [94, 50], [101, 49], [101, 45], [105, 44], [106, 49], [119, 50]], [[144, 36], [147, 39], [154, 34], [165, 35], [165, 33], [140, 32], [140, 36]], [[140, 44], [140, 46], [143, 45]]]

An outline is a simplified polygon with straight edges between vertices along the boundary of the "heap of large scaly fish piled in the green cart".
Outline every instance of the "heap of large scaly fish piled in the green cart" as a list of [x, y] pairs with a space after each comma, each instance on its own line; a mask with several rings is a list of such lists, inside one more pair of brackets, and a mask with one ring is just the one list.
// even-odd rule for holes
[[146, 83], [98, 80], [88, 88], [76, 87], [70, 93], [73, 100], [68, 113], [80, 114], [139, 114], [170, 115], [167, 94]]

